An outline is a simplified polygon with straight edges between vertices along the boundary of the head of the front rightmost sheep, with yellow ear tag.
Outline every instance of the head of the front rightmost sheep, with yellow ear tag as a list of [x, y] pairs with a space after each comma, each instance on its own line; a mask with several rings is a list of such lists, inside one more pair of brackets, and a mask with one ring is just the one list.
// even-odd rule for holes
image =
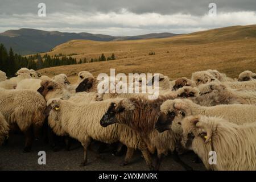
[[181, 121], [181, 128], [183, 130], [181, 144], [185, 148], [192, 149], [192, 143], [195, 138], [208, 143], [212, 138], [212, 129], [210, 125], [205, 122], [208, 121], [209, 118], [196, 115], [186, 117]]

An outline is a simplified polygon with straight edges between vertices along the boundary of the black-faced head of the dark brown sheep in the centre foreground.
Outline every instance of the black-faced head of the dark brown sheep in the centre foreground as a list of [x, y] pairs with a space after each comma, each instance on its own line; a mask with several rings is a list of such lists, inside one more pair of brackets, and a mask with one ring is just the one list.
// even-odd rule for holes
[[107, 127], [118, 122], [118, 115], [125, 113], [125, 111], [134, 110], [135, 106], [127, 99], [117, 99], [117, 101], [110, 102], [108, 110], [101, 118], [100, 124], [103, 127]]

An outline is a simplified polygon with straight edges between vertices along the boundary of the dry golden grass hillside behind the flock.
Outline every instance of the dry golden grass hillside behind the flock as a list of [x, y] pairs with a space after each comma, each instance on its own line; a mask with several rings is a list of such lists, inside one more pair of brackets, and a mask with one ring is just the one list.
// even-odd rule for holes
[[[65, 73], [75, 81], [80, 71], [110, 73], [163, 73], [171, 79], [191, 77], [191, 73], [204, 69], [217, 69], [230, 77], [237, 77], [246, 69], [256, 72], [256, 26], [236, 26], [195, 32], [164, 39], [130, 40], [120, 42], [93, 42], [72, 40], [48, 52], [63, 53], [87, 60], [101, 53], [117, 60], [67, 65], [40, 70], [43, 75]], [[148, 55], [154, 51], [155, 55]]]

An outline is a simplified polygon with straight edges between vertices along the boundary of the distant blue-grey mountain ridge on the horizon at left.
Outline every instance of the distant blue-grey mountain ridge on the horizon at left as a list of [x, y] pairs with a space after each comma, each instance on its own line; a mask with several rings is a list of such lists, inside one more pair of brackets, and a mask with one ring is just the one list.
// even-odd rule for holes
[[53, 47], [74, 39], [108, 42], [111, 40], [138, 40], [148, 38], [166, 38], [177, 34], [160, 33], [138, 36], [110, 36], [101, 34], [67, 33], [59, 31], [42, 31], [30, 28], [7, 30], [0, 34], [0, 43], [6, 48], [12, 47], [15, 52], [28, 55], [38, 52], [47, 52]]

